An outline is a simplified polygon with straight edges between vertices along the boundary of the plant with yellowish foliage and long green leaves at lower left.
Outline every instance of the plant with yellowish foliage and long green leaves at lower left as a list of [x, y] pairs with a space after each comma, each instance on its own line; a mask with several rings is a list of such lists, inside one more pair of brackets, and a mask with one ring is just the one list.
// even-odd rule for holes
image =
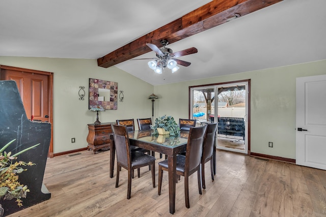
[[10, 141], [0, 149], [0, 198], [4, 200], [16, 198], [17, 205], [20, 207], [22, 206], [20, 198], [26, 198], [27, 192], [30, 192], [27, 185], [23, 185], [18, 181], [18, 174], [27, 170], [20, 166], [33, 166], [35, 164], [32, 162], [25, 163], [23, 161], [15, 160], [19, 154], [28, 151], [31, 148], [35, 148], [40, 143], [19, 151], [11, 156], [11, 151], [7, 153], [5, 149], [15, 140], [16, 139]]

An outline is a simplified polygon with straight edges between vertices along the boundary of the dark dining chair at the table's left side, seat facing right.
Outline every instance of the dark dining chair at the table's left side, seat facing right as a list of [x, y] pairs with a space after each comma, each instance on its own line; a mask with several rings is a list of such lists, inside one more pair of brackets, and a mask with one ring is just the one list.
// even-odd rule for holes
[[155, 158], [141, 151], [131, 151], [130, 142], [127, 133], [127, 127], [121, 125], [112, 125], [112, 131], [117, 152], [117, 180], [116, 188], [119, 187], [119, 173], [121, 168], [128, 170], [128, 190], [127, 199], [131, 196], [131, 176], [134, 169], [150, 165], [152, 171], [153, 188], [155, 188]]

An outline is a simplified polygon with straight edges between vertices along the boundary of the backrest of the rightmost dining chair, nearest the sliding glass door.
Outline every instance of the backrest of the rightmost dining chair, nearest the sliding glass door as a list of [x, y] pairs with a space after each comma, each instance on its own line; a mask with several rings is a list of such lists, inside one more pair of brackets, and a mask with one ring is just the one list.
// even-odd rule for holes
[[209, 123], [206, 129], [206, 135], [203, 144], [203, 159], [209, 158], [213, 155], [214, 141], [216, 137], [216, 130], [218, 129], [218, 123]]

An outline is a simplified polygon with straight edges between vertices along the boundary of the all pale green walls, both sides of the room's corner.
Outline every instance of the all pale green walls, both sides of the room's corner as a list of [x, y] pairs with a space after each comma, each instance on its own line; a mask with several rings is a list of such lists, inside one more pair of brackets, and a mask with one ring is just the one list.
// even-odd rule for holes
[[[0, 56], [0, 65], [53, 72], [54, 152], [87, 146], [87, 123], [95, 113], [88, 110], [88, 92], [78, 100], [79, 86], [88, 88], [88, 79], [118, 82], [124, 91], [124, 102], [118, 110], [100, 112], [101, 122], [151, 116], [154, 92], [154, 116], [172, 115], [176, 120], [188, 117], [188, 87], [227, 81], [251, 79], [251, 151], [295, 159], [295, 78], [326, 74], [326, 60], [273, 69], [243, 72], [200, 80], [153, 86], [116, 68], [97, 67], [95, 59], [64, 59]], [[137, 128], [137, 127], [136, 127]], [[76, 143], [71, 143], [71, 138]], [[268, 142], [274, 142], [269, 148]]]

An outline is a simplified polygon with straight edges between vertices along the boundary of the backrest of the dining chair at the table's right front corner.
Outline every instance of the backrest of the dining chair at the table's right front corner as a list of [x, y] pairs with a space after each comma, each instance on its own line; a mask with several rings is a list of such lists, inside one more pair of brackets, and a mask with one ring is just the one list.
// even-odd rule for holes
[[189, 131], [184, 171], [189, 172], [200, 165], [203, 142], [207, 126], [191, 128]]

